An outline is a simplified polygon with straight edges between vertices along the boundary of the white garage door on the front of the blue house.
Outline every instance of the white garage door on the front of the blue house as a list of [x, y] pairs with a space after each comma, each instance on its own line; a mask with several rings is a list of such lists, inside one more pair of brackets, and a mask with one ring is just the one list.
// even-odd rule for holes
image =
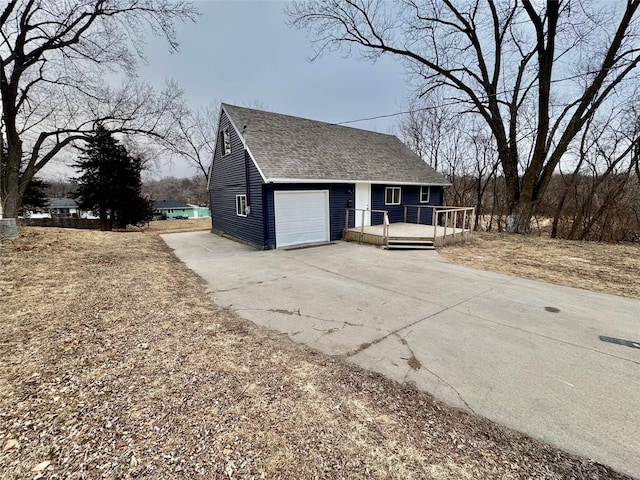
[[329, 241], [329, 191], [274, 192], [276, 248]]

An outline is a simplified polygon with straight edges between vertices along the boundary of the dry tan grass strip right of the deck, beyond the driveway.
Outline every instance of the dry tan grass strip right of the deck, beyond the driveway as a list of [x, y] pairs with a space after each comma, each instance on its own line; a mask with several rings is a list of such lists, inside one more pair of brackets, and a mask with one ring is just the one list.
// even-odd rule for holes
[[640, 299], [640, 244], [474, 233], [471, 242], [439, 252], [481, 270]]

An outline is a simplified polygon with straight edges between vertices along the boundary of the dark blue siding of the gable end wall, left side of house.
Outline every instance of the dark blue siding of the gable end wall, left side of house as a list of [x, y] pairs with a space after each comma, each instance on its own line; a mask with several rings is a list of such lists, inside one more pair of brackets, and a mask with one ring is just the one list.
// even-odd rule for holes
[[[226, 127], [229, 127], [231, 137], [231, 154], [223, 156], [222, 142], [218, 141], [211, 171], [209, 201], [212, 227], [214, 231], [262, 247], [262, 177], [249, 154], [245, 152], [242, 140], [223, 113], [219, 132]], [[236, 195], [247, 195], [247, 203], [251, 207], [248, 216], [236, 215]]]

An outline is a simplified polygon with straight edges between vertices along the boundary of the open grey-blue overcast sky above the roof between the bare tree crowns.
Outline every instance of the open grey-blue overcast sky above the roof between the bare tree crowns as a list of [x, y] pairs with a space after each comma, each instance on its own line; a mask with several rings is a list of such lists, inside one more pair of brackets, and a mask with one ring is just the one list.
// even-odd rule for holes
[[[285, 2], [200, 1], [197, 24], [180, 26], [180, 51], [150, 40], [142, 79], [159, 88], [168, 78], [185, 91], [192, 108], [218, 100], [241, 106], [260, 102], [269, 110], [325, 122], [344, 122], [398, 112], [406, 98], [402, 66], [375, 64], [332, 53], [309, 62], [306, 32], [285, 24]], [[391, 132], [399, 117], [351, 126]], [[191, 176], [174, 162], [161, 175]]]

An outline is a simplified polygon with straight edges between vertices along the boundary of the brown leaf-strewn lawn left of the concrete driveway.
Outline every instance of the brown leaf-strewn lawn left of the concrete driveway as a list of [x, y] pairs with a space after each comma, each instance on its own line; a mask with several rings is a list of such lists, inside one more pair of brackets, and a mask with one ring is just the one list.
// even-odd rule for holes
[[0, 243], [0, 478], [627, 478], [217, 307], [186, 222]]

